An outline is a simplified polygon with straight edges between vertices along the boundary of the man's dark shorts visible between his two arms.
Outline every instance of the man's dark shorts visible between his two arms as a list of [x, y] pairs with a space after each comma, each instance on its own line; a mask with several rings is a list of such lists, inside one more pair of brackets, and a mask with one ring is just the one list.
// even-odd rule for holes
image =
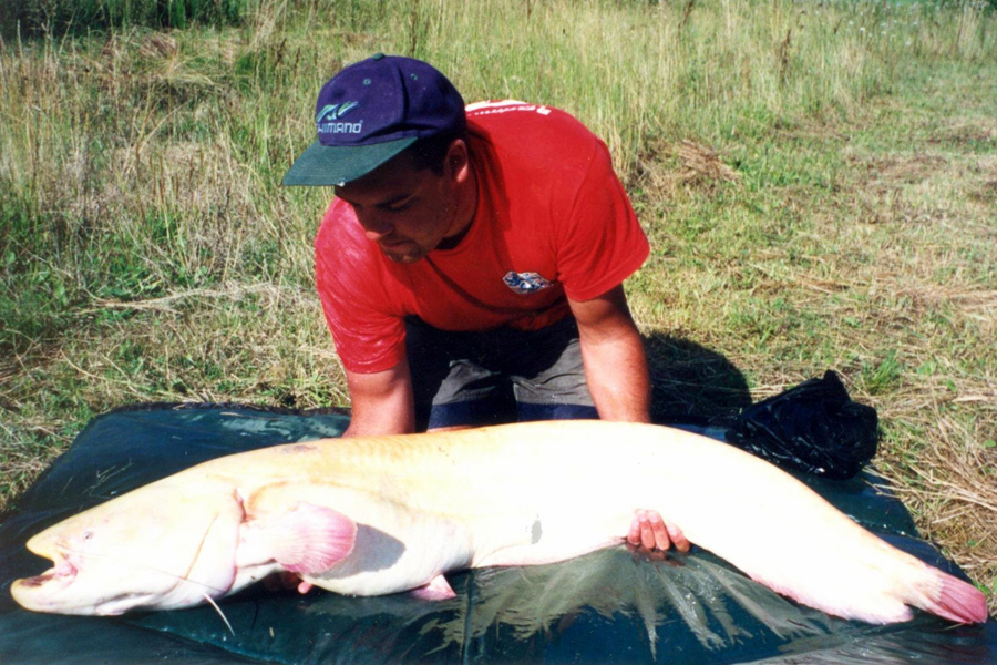
[[598, 418], [578, 327], [567, 317], [541, 330], [449, 332], [405, 323], [415, 428]]

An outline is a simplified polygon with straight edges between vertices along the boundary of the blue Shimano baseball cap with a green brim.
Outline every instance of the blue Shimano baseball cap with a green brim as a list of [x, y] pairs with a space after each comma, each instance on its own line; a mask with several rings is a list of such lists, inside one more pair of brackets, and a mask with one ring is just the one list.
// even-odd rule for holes
[[464, 100], [433, 66], [378, 53], [330, 79], [315, 105], [318, 140], [285, 185], [345, 185], [419, 139], [466, 126]]

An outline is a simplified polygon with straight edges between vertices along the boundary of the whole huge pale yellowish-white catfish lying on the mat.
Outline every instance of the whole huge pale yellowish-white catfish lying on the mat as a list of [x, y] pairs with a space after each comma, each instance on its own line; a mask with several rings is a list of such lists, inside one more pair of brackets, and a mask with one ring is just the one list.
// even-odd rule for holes
[[290, 571], [341, 594], [453, 595], [444, 573], [564, 561], [624, 542], [638, 509], [751, 579], [875, 624], [909, 606], [984, 622], [984, 594], [857, 525], [802, 482], [677, 429], [552, 421], [325, 439], [212, 460], [28, 541], [28, 610], [185, 607]]

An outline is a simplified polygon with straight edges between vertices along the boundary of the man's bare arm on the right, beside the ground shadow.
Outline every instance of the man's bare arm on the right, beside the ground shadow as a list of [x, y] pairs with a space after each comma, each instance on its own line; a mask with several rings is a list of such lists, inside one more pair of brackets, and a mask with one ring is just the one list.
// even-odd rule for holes
[[650, 422], [650, 375], [623, 285], [590, 300], [568, 299], [588, 391], [603, 420]]

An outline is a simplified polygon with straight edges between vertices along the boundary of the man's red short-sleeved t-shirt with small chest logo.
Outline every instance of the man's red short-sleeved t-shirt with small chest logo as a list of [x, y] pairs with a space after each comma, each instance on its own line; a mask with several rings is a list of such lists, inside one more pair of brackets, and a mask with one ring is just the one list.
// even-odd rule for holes
[[[405, 357], [403, 317], [444, 330], [536, 330], [623, 283], [648, 243], [609, 151], [563, 111], [522, 102], [467, 106], [477, 211], [452, 249], [398, 264], [346, 202], [333, 198], [315, 241], [316, 283], [349, 371]], [[455, 286], [459, 285], [459, 286]]]

